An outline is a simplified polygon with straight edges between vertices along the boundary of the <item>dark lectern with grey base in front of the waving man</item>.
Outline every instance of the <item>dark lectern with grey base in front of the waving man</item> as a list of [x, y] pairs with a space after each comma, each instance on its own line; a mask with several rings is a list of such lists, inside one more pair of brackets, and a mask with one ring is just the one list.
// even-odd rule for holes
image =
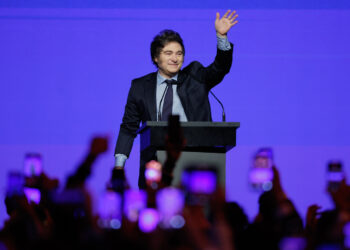
[[[225, 187], [226, 153], [236, 146], [239, 122], [181, 122], [186, 145], [174, 169], [172, 185], [181, 181], [183, 169], [188, 165], [215, 166], [219, 183]], [[147, 121], [138, 130], [140, 134], [140, 170], [145, 163], [166, 160], [165, 137], [168, 122]], [[141, 173], [141, 171], [140, 171]]]

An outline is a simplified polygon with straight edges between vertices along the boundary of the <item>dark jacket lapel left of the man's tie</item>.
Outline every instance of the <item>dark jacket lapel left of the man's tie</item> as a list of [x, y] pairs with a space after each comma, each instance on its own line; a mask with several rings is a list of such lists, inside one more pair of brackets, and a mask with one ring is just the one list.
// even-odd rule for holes
[[157, 106], [156, 106], [156, 87], [157, 87], [157, 73], [153, 73], [146, 80], [145, 85], [145, 100], [147, 110], [151, 117], [151, 121], [157, 120]]

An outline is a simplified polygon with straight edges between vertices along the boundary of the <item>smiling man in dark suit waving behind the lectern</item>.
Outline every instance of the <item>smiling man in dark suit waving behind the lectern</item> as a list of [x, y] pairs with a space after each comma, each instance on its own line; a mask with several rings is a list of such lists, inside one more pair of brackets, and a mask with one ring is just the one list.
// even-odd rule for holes
[[231, 68], [233, 44], [228, 42], [227, 32], [237, 23], [237, 16], [230, 10], [222, 18], [216, 13], [218, 50], [208, 67], [194, 61], [181, 70], [185, 48], [180, 35], [164, 30], [154, 37], [151, 57], [158, 71], [131, 83], [115, 147], [115, 168], [124, 167], [141, 121], [167, 120], [170, 114], [179, 115], [180, 121], [212, 120], [208, 93]]

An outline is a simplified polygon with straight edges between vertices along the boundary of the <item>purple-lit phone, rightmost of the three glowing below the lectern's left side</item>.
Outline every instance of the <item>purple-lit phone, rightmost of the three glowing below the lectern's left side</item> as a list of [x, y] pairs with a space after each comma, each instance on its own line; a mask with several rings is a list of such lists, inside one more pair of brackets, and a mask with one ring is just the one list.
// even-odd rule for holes
[[180, 229], [185, 225], [182, 212], [185, 205], [184, 193], [174, 187], [163, 188], [156, 195], [157, 209], [162, 228]]

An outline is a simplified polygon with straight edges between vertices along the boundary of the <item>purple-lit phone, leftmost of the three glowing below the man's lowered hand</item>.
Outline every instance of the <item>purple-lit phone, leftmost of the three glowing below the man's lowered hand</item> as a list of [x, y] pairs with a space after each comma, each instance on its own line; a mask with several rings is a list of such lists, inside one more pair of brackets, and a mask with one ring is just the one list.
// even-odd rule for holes
[[122, 197], [114, 191], [101, 196], [98, 209], [98, 225], [105, 229], [120, 229], [122, 226]]

